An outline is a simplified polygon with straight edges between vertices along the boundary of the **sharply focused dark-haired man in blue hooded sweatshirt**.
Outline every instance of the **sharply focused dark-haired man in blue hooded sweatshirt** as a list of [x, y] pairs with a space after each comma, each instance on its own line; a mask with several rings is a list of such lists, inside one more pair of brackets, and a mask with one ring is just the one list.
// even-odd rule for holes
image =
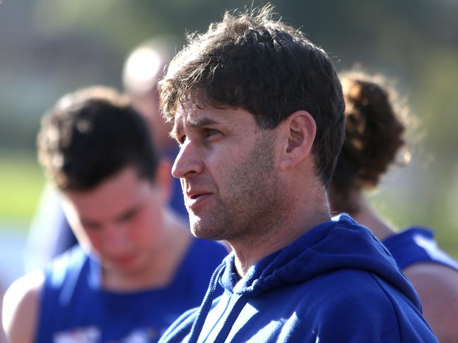
[[159, 90], [192, 233], [233, 249], [161, 342], [436, 342], [385, 247], [330, 219], [344, 100], [323, 49], [270, 6], [226, 13]]

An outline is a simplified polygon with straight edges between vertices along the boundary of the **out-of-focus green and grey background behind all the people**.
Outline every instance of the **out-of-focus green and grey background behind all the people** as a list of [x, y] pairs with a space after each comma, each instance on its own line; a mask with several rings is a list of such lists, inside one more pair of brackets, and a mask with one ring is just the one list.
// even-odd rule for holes
[[[393, 167], [378, 209], [400, 228], [435, 228], [458, 257], [458, 1], [271, 1], [332, 56], [397, 79], [420, 127], [409, 167]], [[23, 272], [23, 246], [44, 178], [39, 118], [68, 91], [120, 89], [123, 60], [144, 39], [206, 30], [225, 10], [258, 0], [0, 0], [0, 285]], [[420, 138], [420, 139], [419, 139]]]

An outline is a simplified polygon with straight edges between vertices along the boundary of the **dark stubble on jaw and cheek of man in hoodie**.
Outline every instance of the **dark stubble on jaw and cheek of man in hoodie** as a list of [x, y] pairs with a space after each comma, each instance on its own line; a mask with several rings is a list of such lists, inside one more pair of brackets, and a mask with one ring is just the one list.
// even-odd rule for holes
[[204, 216], [190, 214], [192, 233], [208, 240], [245, 244], [267, 239], [269, 231], [282, 221], [281, 192], [274, 171], [272, 131], [262, 131], [248, 157], [233, 171], [225, 196], [215, 196], [216, 205]]

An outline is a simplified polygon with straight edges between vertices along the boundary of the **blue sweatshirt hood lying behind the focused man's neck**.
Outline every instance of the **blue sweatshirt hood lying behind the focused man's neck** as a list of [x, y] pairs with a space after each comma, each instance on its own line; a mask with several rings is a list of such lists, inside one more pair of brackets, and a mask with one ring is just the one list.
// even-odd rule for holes
[[219, 283], [230, 293], [257, 297], [274, 288], [305, 283], [340, 268], [375, 273], [400, 290], [417, 309], [419, 298], [385, 246], [347, 214], [320, 224], [292, 244], [264, 257], [239, 280], [233, 253], [223, 261]]

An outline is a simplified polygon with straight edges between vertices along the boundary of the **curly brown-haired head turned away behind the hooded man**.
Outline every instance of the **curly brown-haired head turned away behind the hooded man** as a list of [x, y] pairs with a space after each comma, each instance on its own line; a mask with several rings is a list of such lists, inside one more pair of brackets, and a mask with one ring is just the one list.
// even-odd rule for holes
[[[377, 188], [403, 151], [404, 124], [399, 97], [380, 75], [361, 70], [340, 74], [345, 98], [345, 141], [333, 174], [330, 205], [336, 212], [359, 211], [359, 193]], [[409, 155], [402, 158], [405, 162]]]

